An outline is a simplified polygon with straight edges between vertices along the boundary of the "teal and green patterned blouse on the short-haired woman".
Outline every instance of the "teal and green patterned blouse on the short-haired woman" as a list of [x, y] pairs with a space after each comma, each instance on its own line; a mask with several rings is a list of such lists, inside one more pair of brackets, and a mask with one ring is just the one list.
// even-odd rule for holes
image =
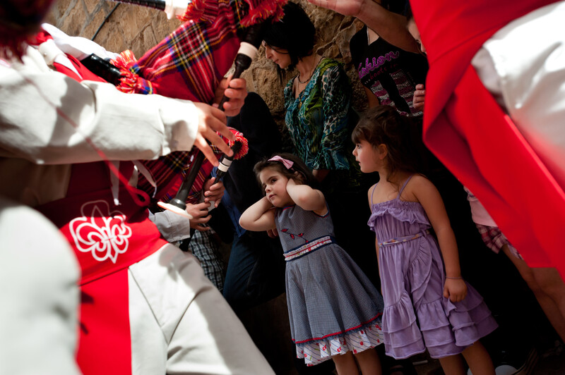
[[351, 86], [341, 63], [324, 58], [297, 98], [285, 87], [285, 122], [297, 155], [312, 169], [349, 169]]

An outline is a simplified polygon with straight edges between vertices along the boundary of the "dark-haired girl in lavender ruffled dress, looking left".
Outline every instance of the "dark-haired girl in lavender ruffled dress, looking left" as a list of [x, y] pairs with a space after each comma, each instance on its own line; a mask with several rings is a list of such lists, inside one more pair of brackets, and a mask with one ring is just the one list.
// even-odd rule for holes
[[463, 354], [473, 374], [494, 375], [479, 339], [496, 321], [461, 277], [444, 202], [415, 171], [409, 127], [392, 107], [376, 106], [352, 133], [361, 171], [380, 176], [369, 189], [369, 227], [376, 233], [386, 354], [399, 359], [427, 349], [449, 375], [465, 373]]

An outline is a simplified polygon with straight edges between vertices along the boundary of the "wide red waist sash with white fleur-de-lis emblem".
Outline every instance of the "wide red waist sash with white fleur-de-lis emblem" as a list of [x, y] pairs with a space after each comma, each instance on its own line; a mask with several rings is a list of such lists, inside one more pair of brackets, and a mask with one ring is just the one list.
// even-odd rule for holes
[[[131, 169], [129, 161], [121, 162]], [[126, 172], [127, 173], [127, 172]], [[59, 227], [81, 264], [81, 285], [126, 269], [168, 242], [124, 187], [114, 205], [103, 162], [73, 164], [67, 196], [38, 209]]]

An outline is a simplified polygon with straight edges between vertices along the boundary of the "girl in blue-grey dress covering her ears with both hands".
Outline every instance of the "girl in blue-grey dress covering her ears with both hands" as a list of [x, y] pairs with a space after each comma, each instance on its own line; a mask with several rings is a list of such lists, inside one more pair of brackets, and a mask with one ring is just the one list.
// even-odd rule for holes
[[381, 374], [374, 348], [382, 343], [382, 297], [345, 250], [316, 178], [297, 156], [278, 154], [254, 171], [266, 196], [246, 209], [247, 230], [277, 228], [297, 357], [308, 365], [333, 359], [338, 374]]

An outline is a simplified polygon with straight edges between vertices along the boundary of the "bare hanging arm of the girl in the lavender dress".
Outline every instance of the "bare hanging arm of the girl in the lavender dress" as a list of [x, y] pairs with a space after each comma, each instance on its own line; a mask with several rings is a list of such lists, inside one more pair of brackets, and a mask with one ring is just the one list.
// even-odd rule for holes
[[457, 242], [449, 223], [444, 201], [434, 184], [424, 176], [414, 176], [411, 182], [412, 188], [410, 190], [414, 192], [416, 199], [426, 211], [429, 223], [432, 224], [436, 232], [439, 250], [444, 257], [447, 276], [444, 296], [452, 302], [459, 302], [467, 295], [467, 285], [461, 278]]

